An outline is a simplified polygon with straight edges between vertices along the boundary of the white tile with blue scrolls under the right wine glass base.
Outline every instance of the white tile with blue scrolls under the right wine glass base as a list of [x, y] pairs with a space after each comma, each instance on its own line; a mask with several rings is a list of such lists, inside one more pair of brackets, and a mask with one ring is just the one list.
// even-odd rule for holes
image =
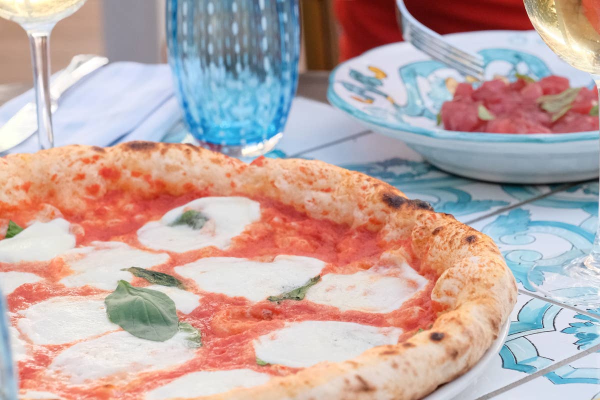
[[[597, 221], [598, 184], [589, 182], [472, 226], [494, 239], [520, 287], [533, 293], [558, 267], [589, 251]], [[530, 275], [534, 266], [544, 273]], [[569, 287], [561, 294], [584, 298], [584, 291]]]

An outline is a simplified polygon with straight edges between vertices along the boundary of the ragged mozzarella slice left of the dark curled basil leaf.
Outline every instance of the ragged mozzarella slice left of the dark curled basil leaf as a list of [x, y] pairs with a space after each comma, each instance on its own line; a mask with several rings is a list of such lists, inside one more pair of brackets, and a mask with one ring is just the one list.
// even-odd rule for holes
[[167, 254], [134, 249], [121, 242], [92, 242], [92, 245], [74, 249], [63, 257], [74, 273], [62, 278], [62, 284], [115, 290], [119, 279], [131, 281], [133, 277], [130, 272], [121, 269], [133, 266], [148, 269], [169, 260]]

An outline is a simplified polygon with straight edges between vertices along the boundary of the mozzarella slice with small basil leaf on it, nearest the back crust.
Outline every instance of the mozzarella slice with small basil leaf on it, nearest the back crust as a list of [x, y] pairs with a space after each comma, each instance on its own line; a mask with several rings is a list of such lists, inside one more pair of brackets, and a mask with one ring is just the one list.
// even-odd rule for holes
[[[187, 225], [170, 226], [185, 211], [196, 210], [209, 218], [198, 229]], [[232, 237], [260, 219], [260, 204], [245, 197], [203, 197], [167, 212], [159, 221], [148, 222], [137, 238], [152, 249], [185, 252], [206, 246], [227, 248]]]

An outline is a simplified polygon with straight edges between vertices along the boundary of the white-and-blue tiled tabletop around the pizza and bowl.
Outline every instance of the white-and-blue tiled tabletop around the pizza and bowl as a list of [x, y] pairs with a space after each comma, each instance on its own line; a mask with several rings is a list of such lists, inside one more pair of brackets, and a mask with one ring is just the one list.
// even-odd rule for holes
[[[590, 248], [598, 223], [598, 182], [499, 185], [442, 172], [402, 142], [362, 127], [326, 105], [328, 74], [302, 74], [286, 132], [274, 157], [315, 158], [358, 170], [429, 201], [490, 235], [517, 278], [508, 338], [487, 372], [461, 400], [600, 400], [600, 309], [537, 293], [528, 270], [551, 270]], [[0, 104], [24, 91], [0, 86]], [[294, 111], [312, 107], [314, 118]], [[304, 108], [306, 109], [306, 108]], [[540, 279], [543, 279], [542, 277]]]

